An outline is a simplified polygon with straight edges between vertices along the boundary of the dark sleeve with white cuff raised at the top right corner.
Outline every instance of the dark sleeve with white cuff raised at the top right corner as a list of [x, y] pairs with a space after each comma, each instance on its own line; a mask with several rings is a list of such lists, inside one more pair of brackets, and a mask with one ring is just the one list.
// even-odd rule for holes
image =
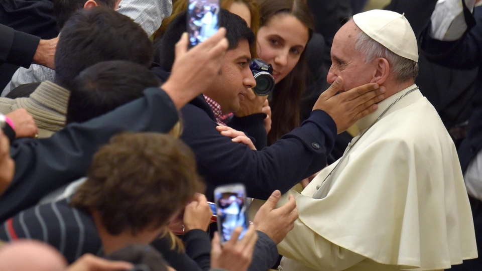
[[457, 41], [439, 41], [431, 38], [428, 33], [431, 24], [429, 23], [419, 39], [424, 55], [431, 62], [448, 68], [473, 69], [479, 67], [482, 58], [482, 7], [475, 7], [473, 14], [475, 26], [472, 28], [469, 26]]

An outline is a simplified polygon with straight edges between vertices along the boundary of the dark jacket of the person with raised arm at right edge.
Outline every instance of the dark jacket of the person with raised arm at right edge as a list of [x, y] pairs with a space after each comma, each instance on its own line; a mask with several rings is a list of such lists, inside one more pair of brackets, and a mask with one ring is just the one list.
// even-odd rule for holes
[[[427, 26], [420, 36], [420, 45], [426, 57], [437, 64], [454, 69], [479, 68], [475, 80], [475, 94], [472, 100], [473, 112], [469, 119], [467, 136], [458, 149], [462, 171], [482, 149], [482, 7], [473, 12], [475, 26], [455, 42], [442, 42], [431, 39]], [[469, 18], [466, 18], [468, 21]]]

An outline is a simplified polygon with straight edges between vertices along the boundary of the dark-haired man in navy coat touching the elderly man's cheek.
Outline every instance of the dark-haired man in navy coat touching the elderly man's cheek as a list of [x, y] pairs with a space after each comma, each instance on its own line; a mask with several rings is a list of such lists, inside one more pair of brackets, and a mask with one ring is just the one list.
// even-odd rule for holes
[[[173, 50], [175, 40], [181, 35], [183, 26], [185, 28], [183, 16], [176, 18], [167, 28], [161, 43], [166, 51], [162, 51], [161, 56], [172, 54], [167, 50]], [[373, 91], [354, 99], [360, 94], [347, 91], [333, 96], [336, 90], [330, 89], [320, 96], [310, 118], [275, 144], [253, 151], [246, 145], [234, 143], [216, 129], [216, 117], [221, 110], [223, 114], [238, 110], [247, 89], [256, 85], [249, 68], [250, 46], [254, 40], [246, 22], [234, 14], [221, 10], [219, 23], [226, 28], [230, 49], [224, 56], [218, 76], [203, 92], [204, 96], [198, 96], [181, 110], [185, 124], [181, 138], [196, 154], [199, 173], [209, 188], [206, 195], [210, 196], [211, 189], [216, 185], [244, 183], [248, 196], [267, 199], [272, 191], [279, 189], [284, 193], [326, 165], [326, 154], [333, 147], [336, 132], [346, 129], [369, 110], [374, 110], [371, 106], [380, 100], [377, 96], [380, 92]], [[171, 35], [171, 31], [174, 34]], [[168, 62], [161, 60], [161, 65], [169, 67]], [[365, 92], [373, 89], [374, 84], [368, 85]], [[352, 102], [356, 104], [371, 101], [355, 110], [353, 115], [358, 116], [353, 117], [351, 113], [348, 116], [342, 113], [345, 111], [342, 109], [345, 108], [345, 95], [350, 97], [348, 100], [354, 99]], [[363, 99], [363, 102], [357, 103]], [[265, 131], [266, 137], [263, 119], [250, 120], [248, 125], [258, 125]]]

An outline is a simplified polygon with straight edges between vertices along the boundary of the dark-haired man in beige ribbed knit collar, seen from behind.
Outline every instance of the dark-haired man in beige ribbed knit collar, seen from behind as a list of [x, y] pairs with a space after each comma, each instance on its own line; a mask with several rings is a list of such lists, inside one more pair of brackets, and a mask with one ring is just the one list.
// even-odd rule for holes
[[65, 124], [69, 84], [82, 70], [107, 60], [128, 60], [149, 67], [152, 43], [128, 17], [108, 8], [84, 9], [66, 23], [57, 45], [55, 83], [42, 82], [28, 98], [0, 98], [0, 112], [27, 109], [39, 127], [39, 137], [50, 137]]

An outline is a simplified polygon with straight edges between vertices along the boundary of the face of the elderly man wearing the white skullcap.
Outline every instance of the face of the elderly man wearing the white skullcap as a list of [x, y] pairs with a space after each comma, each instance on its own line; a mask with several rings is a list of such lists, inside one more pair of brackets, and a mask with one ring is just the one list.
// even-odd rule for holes
[[332, 84], [337, 76], [341, 76], [344, 81], [342, 92], [370, 83], [376, 74], [376, 65], [365, 64], [364, 57], [355, 51], [355, 42], [360, 31], [350, 20], [333, 38], [331, 67], [326, 80]]

